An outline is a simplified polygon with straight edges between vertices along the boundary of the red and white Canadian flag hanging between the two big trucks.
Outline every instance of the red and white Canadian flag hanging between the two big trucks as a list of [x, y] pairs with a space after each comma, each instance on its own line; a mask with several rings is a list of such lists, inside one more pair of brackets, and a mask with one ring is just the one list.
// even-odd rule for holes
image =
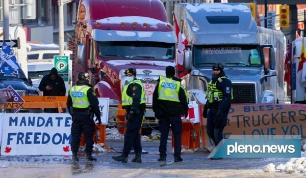
[[[178, 40], [178, 42], [177, 42], [177, 52], [179, 53], [179, 54], [177, 54], [177, 64], [176, 65], [177, 65], [177, 69], [179, 71], [183, 71], [184, 70], [184, 68], [183, 68], [184, 51], [186, 50], [186, 45], [188, 44], [188, 41], [185, 38], [185, 36], [182, 35], [179, 23], [177, 23], [177, 20], [175, 18], [174, 13], [173, 13], [173, 17], [174, 17], [174, 22], [175, 22], [175, 34], [176, 34], [176, 38]], [[180, 77], [180, 75], [179, 75], [179, 77]]]

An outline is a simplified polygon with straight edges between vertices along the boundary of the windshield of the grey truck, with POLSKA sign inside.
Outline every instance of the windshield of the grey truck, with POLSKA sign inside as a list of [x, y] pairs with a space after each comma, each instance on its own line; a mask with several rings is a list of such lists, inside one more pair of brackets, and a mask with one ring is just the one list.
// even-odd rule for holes
[[258, 45], [195, 45], [193, 48], [195, 67], [224, 66], [261, 67]]

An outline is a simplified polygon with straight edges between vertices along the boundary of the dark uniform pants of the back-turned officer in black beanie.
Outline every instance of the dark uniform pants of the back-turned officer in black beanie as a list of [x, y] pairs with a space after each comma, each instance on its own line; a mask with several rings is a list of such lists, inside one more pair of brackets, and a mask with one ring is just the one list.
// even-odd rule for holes
[[159, 130], [161, 133], [159, 152], [160, 157], [166, 158], [167, 154], [167, 141], [169, 135], [169, 129], [171, 129], [174, 137], [174, 157], [181, 156], [181, 134], [182, 134], [182, 119], [180, 116], [165, 116], [159, 118]]

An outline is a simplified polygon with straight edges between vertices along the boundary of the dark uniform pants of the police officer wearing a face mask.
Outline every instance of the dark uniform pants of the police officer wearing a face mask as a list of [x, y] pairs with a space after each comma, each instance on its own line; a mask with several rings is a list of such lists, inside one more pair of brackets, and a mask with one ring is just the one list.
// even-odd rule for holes
[[135, 153], [141, 153], [141, 137], [139, 129], [141, 128], [144, 112], [136, 114], [133, 121], [128, 120], [126, 123], [126, 132], [124, 135], [123, 153], [128, 155], [131, 152], [132, 146]]

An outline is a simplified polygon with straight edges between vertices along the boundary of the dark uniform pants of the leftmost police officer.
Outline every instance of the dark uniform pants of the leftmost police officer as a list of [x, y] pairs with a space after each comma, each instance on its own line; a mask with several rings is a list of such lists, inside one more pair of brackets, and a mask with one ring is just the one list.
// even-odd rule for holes
[[93, 149], [93, 134], [95, 130], [95, 123], [90, 114], [84, 112], [76, 112], [72, 116], [72, 126], [71, 126], [71, 151], [78, 152], [80, 146], [80, 138], [82, 132], [85, 136], [85, 151], [91, 152]]

